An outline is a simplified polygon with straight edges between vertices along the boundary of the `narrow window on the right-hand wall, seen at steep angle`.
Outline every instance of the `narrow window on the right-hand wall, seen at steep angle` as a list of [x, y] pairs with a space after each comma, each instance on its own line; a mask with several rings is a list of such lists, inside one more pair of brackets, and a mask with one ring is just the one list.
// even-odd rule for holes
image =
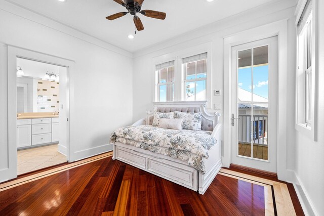
[[297, 25], [297, 123], [312, 125], [312, 1], [308, 1]]

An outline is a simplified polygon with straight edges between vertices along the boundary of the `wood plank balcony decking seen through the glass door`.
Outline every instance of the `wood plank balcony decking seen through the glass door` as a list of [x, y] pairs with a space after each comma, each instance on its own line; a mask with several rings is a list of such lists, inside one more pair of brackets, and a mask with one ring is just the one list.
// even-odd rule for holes
[[[251, 157], [251, 144], [238, 144], [238, 155]], [[253, 145], [253, 157], [268, 160], [268, 147]]]

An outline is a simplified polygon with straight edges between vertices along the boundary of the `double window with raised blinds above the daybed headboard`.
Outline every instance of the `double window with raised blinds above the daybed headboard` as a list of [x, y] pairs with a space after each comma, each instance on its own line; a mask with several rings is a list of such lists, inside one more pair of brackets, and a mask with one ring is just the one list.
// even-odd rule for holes
[[210, 42], [152, 59], [154, 102], [207, 101], [212, 108]]

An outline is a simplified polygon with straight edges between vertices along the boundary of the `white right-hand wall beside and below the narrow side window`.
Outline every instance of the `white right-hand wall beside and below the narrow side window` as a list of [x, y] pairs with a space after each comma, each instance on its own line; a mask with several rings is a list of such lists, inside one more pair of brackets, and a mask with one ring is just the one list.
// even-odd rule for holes
[[[297, 190], [309, 209], [309, 214], [324, 215], [324, 2], [317, 2], [318, 100], [317, 142], [296, 131]], [[303, 194], [304, 193], [304, 194]], [[307, 200], [308, 199], [308, 200]], [[307, 203], [308, 202], [308, 203]]]

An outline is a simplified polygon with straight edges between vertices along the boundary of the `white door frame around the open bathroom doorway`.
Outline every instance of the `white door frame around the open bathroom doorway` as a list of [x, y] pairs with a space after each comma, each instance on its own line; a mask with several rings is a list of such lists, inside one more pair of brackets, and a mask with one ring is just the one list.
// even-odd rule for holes
[[[17, 140], [16, 140], [16, 121], [17, 121], [17, 88], [16, 88], [16, 68], [17, 57], [30, 59], [34, 61], [54, 64], [67, 68], [67, 160], [72, 160], [71, 153], [73, 147], [70, 145], [70, 105], [74, 95], [74, 87], [69, 79], [73, 74], [73, 60], [63, 59], [60, 57], [39, 53], [36, 51], [26, 50], [23, 48], [8, 45], [8, 167], [0, 170], [0, 182], [14, 179], [17, 177]], [[5, 174], [5, 175], [2, 175]]]

